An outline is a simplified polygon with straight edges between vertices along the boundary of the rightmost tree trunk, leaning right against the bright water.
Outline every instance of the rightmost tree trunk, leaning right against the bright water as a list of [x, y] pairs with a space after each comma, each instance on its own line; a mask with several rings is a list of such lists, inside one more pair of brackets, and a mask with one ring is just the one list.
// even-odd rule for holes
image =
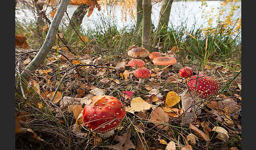
[[[171, 13], [173, 0], [163, 0], [161, 4], [160, 16], [159, 16], [159, 23], [157, 25], [156, 36], [159, 37], [161, 35], [166, 34], [168, 30], [168, 23]], [[155, 39], [153, 45], [155, 44]]]

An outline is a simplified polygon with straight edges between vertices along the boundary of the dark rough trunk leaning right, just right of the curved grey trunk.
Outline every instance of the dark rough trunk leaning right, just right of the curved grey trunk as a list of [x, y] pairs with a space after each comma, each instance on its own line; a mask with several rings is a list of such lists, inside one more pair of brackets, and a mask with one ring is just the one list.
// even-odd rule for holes
[[68, 28], [71, 28], [71, 26], [73, 25], [75, 28], [76, 27], [81, 27], [81, 24], [83, 22], [83, 18], [85, 16], [85, 14], [88, 12], [88, 8], [90, 6], [89, 5], [85, 5], [85, 4], [81, 4], [79, 5], [76, 9], [75, 12], [72, 15], [72, 23], [70, 23], [70, 25], [68, 26]]

